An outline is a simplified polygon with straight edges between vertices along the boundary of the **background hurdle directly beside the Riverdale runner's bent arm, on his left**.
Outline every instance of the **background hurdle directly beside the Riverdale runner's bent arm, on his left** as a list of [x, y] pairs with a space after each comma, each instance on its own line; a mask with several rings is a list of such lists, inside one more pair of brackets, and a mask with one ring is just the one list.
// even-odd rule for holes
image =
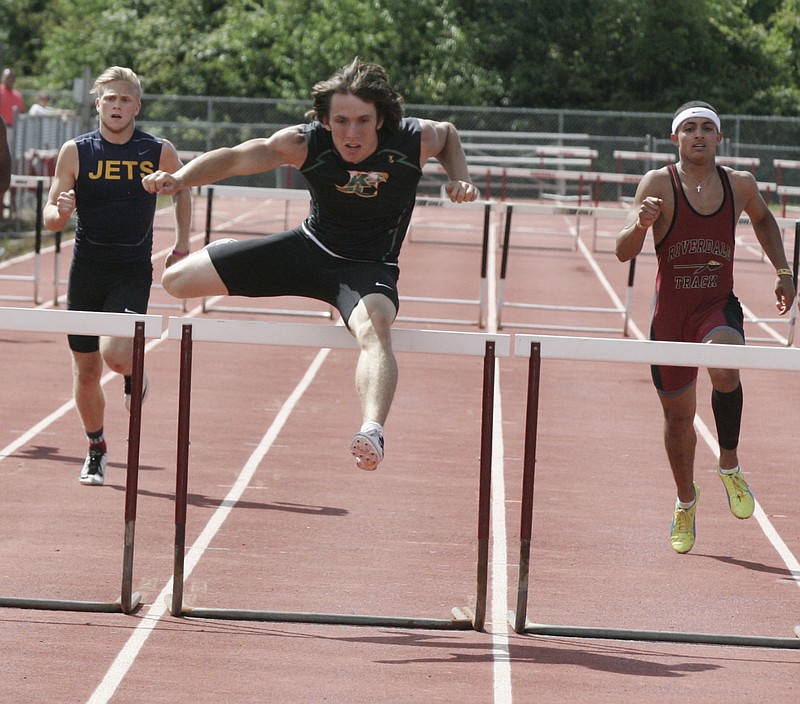
[[[627, 337], [628, 335], [628, 326], [630, 322], [630, 315], [631, 315], [631, 307], [633, 305], [633, 280], [636, 271], [636, 263], [635, 258], [631, 260], [630, 265], [628, 267], [628, 284], [626, 289], [626, 302], [623, 307], [597, 307], [597, 306], [565, 306], [565, 305], [555, 305], [555, 304], [545, 304], [545, 303], [519, 303], [519, 302], [509, 302], [506, 301], [505, 297], [505, 288], [506, 288], [506, 277], [508, 273], [508, 255], [510, 251], [510, 240], [511, 240], [511, 220], [514, 212], [523, 211], [523, 212], [536, 212], [536, 213], [547, 213], [547, 214], [557, 214], [557, 215], [571, 215], [574, 214], [576, 217], [576, 242], [578, 240], [578, 236], [580, 234], [580, 216], [581, 215], [595, 215], [597, 208], [594, 207], [575, 207], [575, 206], [564, 206], [564, 205], [542, 205], [542, 204], [530, 204], [530, 203], [505, 203], [505, 229], [503, 233], [503, 248], [502, 248], [502, 259], [500, 264], [500, 281], [497, 288], [497, 325], [498, 329], [502, 329], [502, 312], [503, 308], [521, 308], [526, 310], [564, 310], [570, 312], [579, 312], [579, 313], [611, 313], [615, 315], [620, 315], [622, 317], [622, 334]], [[603, 208], [603, 212], [605, 211], [612, 211], [615, 213], [620, 213], [621, 216], [624, 216], [625, 213], [621, 210], [615, 210], [611, 208]], [[540, 328], [540, 329], [550, 329], [550, 330], [570, 330], [570, 331], [583, 331], [583, 332], [616, 332], [618, 328], [609, 328], [609, 327], [585, 327], [585, 326], [568, 326], [568, 325], [543, 325], [543, 324], [536, 324], [536, 323], [511, 323], [515, 328]]]

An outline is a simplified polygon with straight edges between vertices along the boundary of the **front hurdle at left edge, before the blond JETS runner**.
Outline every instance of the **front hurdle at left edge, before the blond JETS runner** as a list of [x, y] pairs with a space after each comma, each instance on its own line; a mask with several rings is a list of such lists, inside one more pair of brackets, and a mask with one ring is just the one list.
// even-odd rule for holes
[[110, 335], [133, 338], [132, 396], [128, 424], [128, 465], [125, 484], [125, 537], [120, 598], [113, 602], [106, 602], [0, 596], [0, 607], [49, 611], [133, 613], [141, 601], [141, 594], [133, 592], [132, 583], [142, 423], [144, 340], [145, 338], [161, 337], [161, 317], [43, 308], [0, 308], [0, 329], [17, 332]]

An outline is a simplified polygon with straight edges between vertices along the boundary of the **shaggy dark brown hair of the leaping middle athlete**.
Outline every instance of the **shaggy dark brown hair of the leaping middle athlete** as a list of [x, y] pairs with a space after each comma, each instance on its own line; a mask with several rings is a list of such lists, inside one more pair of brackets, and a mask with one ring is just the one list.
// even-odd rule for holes
[[389, 76], [378, 64], [367, 63], [356, 57], [329, 79], [317, 83], [311, 89], [313, 107], [306, 116], [320, 122], [327, 119], [330, 116], [331, 98], [336, 93], [355, 95], [375, 105], [378, 120], [383, 120], [386, 129], [395, 131], [400, 127], [403, 97], [392, 88]]

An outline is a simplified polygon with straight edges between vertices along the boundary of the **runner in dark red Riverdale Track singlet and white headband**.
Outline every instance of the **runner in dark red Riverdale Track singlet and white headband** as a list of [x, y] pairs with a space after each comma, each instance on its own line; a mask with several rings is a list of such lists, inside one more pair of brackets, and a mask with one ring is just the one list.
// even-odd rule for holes
[[[653, 228], [658, 275], [651, 339], [742, 345], [742, 308], [733, 294], [736, 223], [746, 212], [775, 267], [776, 305], [783, 315], [792, 306], [795, 289], [778, 224], [750, 172], [716, 165], [722, 132], [711, 105], [692, 101], [678, 108], [672, 141], [680, 161], [642, 178], [617, 237], [617, 257], [628, 261], [638, 255]], [[732, 513], [749, 518], [755, 501], [736, 452], [742, 418], [739, 372], [709, 369], [708, 373], [720, 446], [717, 472]], [[664, 444], [678, 492], [670, 542], [676, 552], [686, 553], [695, 541], [699, 496], [694, 482], [697, 368], [654, 366], [652, 374], [664, 410]]]

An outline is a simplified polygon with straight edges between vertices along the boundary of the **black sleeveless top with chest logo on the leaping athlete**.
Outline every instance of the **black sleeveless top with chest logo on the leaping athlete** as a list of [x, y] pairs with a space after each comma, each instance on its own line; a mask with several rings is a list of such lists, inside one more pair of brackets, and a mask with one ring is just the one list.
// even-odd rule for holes
[[419, 120], [379, 130], [378, 148], [357, 164], [339, 156], [319, 122], [304, 131], [308, 157], [300, 173], [311, 192], [304, 229], [340, 257], [396, 263], [422, 176]]

